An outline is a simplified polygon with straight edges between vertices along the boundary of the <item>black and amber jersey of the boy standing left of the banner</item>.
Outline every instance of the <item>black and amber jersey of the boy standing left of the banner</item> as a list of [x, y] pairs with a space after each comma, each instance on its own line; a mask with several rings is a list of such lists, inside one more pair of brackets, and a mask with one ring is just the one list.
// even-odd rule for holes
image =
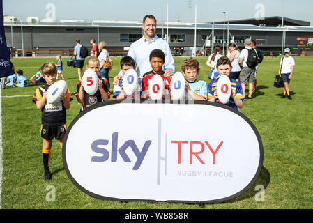
[[[49, 85], [45, 84], [36, 89], [35, 94], [33, 95], [33, 102], [36, 104], [38, 100], [43, 98], [43, 95], [47, 91]], [[68, 101], [72, 100], [70, 91], [68, 91]], [[66, 108], [64, 107], [64, 102], [60, 101], [55, 104], [49, 104], [47, 101], [41, 109], [41, 123], [43, 125], [64, 125], [66, 124]]]

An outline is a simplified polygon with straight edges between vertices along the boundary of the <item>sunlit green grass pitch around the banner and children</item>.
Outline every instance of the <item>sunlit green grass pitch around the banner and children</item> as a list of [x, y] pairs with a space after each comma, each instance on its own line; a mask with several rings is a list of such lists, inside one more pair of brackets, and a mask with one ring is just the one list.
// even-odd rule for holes
[[[176, 70], [181, 70], [184, 58], [175, 58]], [[197, 58], [201, 64], [198, 79], [208, 82], [206, 57]], [[71, 93], [76, 90], [77, 69], [66, 66], [63, 73]], [[119, 61], [114, 59], [112, 77], [119, 72]], [[40, 65], [56, 59], [13, 59], [30, 78]], [[245, 101], [241, 112], [259, 130], [264, 144], [264, 167], [257, 182], [237, 199], [206, 205], [204, 208], [313, 208], [313, 102], [312, 57], [295, 58], [296, 66], [290, 90], [293, 100], [281, 99], [283, 89], [273, 86], [280, 58], [264, 58], [257, 74], [257, 91], [252, 101]], [[2, 90], [3, 182], [2, 208], [200, 208], [198, 205], [158, 204], [144, 202], [121, 203], [89, 197], [71, 183], [63, 167], [61, 148], [53, 141], [50, 170], [53, 178], [43, 180], [43, 161], [40, 138], [40, 110], [31, 101], [39, 84], [24, 89]], [[70, 102], [68, 125], [79, 113], [76, 98]], [[238, 137], [245, 136], [236, 132]], [[46, 201], [48, 185], [56, 189], [56, 201]], [[264, 185], [264, 201], [256, 201], [256, 185]]]

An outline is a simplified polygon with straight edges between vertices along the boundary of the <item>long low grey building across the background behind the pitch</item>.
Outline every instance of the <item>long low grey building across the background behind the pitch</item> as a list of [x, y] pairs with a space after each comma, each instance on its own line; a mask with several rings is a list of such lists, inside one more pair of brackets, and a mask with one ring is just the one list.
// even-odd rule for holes
[[[227, 43], [230, 42], [235, 42], [242, 49], [245, 38], [251, 38], [257, 41], [257, 46], [265, 54], [270, 52], [279, 54], [282, 50], [282, 33], [285, 31], [285, 47], [291, 48], [293, 54], [313, 55], [313, 27], [310, 26], [310, 22], [284, 18], [285, 26], [281, 27], [279, 26], [281, 19], [281, 17], [268, 17], [264, 20], [265, 26], [254, 24], [254, 20], [228, 21], [225, 24], [222, 22], [197, 24], [196, 47], [198, 51], [201, 50], [207, 55], [214, 45], [221, 47], [224, 45], [226, 51]], [[169, 46], [173, 53], [191, 56], [195, 24], [181, 22], [158, 24], [159, 37], [167, 39], [167, 26]], [[112, 56], [122, 56], [127, 54], [131, 43], [142, 38], [142, 23], [136, 21], [20, 22], [14, 20], [8, 22], [5, 20], [4, 27], [6, 41], [10, 47], [13, 47], [13, 52], [24, 49], [26, 56], [34, 56], [33, 52], [38, 52], [35, 53], [36, 56], [54, 56], [60, 52], [63, 52], [63, 56], [68, 56], [75, 46], [76, 39], [80, 39], [83, 45], [91, 49], [89, 43], [91, 38], [96, 39], [98, 43], [105, 41]], [[40, 54], [40, 51], [47, 50], [49, 55]]]

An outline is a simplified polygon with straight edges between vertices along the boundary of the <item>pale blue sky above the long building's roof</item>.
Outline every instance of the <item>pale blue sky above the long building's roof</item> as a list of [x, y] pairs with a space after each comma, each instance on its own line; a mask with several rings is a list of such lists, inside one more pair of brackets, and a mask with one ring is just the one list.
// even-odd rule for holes
[[[282, 7], [284, 2], [284, 7]], [[311, 22], [313, 26], [312, 0], [159, 0], [159, 1], [119, 1], [119, 0], [3, 0], [3, 14], [20, 17], [46, 17], [46, 6], [54, 4], [56, 20], [135, 20], [141, 21], [147, 14], [153, 14], [158, 23], [165, 22], [167, 3], [169, 21], [194, 22], [194, 5], [197, 4], [197, 22], [223, 21], [253, 18], [261, 4], [264, 16], [282, 16]], [[284, 8], [284, 10], [283, 10]], [[260, 11], [259, 11], [260, 12]]]

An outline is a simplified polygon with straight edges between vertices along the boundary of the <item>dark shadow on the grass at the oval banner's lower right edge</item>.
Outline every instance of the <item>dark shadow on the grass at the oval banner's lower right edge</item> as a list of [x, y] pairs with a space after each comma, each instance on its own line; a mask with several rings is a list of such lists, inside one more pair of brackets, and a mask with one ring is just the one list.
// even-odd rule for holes
[[235, 203], [237, 201], [242, 201], [245, 199], [249, 199], [251, 197], [255, 197], [257, 192], [260, 192], [260, 190], [256, 190], [257, 185], [262, 185], [264, 187], [264, 190], [268, 185], [270, 184], [270, 172], [263, 166], [261, 169], [261, 173], [259, 175], [259, 178], [257, 178], [257, 181], [250, 187], [245, 194], [242, 194], [240, 197], [237, 197], [236, 199], [233, 199], [231, 201], [227, 201], [225, 203]]

